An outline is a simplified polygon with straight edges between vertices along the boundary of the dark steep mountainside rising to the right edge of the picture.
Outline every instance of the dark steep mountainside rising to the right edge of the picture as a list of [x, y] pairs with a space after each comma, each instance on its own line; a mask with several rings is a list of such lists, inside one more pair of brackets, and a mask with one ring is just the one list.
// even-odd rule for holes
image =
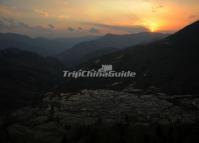
[[[129, 79], [128, 83], [135, 83], [136, 87], [153, 86], [169, 93], [198, 94], [198, 36], [199, 21], [196, 21], [167, 38], [108, 54], [84, 66], [92, 69], [112, 64], [114, 70], [135, 71], [136, 78]], [[113, 81], [127, 82], [122, 79]]]

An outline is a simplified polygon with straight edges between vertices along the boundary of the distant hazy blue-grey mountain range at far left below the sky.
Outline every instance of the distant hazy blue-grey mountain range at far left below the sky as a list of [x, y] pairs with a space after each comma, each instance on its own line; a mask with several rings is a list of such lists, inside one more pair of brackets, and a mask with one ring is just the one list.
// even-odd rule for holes
[[42, 56], [55, 56], [81, 41], [94, 38], [95, 37], [47, 39], [31, 38], [15, 33], [0, 33], [0, 50], [19, 48], [21, 50], [35, 52]]

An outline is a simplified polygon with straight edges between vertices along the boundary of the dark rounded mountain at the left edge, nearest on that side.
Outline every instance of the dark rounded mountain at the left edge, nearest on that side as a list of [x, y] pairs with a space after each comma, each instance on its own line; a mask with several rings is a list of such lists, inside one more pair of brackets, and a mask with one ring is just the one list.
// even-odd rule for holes
[[0, 111], [30, 105], [60, 81], [62, 65], [19, 49], [0, 51]]

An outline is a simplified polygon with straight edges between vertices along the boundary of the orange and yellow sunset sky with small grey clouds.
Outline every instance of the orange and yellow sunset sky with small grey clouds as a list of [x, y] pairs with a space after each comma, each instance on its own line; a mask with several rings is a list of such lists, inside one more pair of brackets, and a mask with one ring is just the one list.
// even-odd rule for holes
[[175, 32], [199, 19], [199, 0], [0, 0], [0, 32], [82, 37]]

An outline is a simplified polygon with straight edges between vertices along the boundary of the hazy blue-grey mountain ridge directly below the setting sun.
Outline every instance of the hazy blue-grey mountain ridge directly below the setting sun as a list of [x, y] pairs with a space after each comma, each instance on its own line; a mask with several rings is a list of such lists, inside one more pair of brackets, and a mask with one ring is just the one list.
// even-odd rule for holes
[[[66, 66], [76, 66], [80, 63], [86, 62], [89, 59], [88, 55], [94, 55], [96, 51], [100, 49], [103, 49], [103, 51], [107, 49], [107, 53], [109, 53], [109, 48], [123, 49], [129, 46], [162, 39], [166, 36], [168, 35], [150, 32], [128, 35], [107, 34], [96, 40], [81, 42], [75, 45], [73, 48], [61, 53], [58, 58], [60, 61], [66, 64]], [[106, 54], [106, 52], [103, 52], [103, 54]], [[102, 54], [100, 56], [102, 56]]]

